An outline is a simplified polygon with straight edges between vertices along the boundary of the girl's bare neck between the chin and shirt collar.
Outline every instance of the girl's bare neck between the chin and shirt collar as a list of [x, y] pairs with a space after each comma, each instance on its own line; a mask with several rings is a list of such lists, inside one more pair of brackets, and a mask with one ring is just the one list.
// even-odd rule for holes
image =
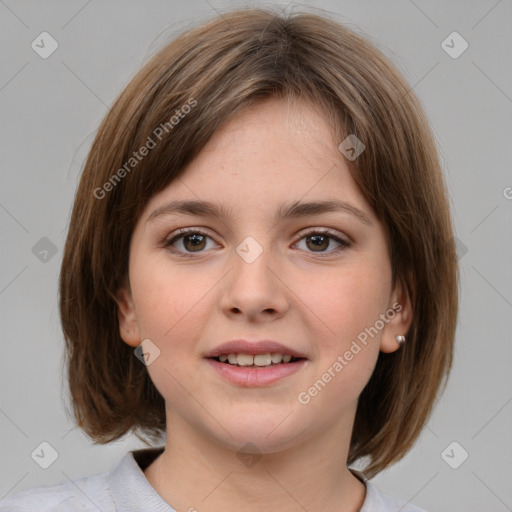
[[167, 411], [165, 450], [144, 474], [180, 512], [357, 512], [365, 486], [346, 467], [350, 434], [337, 423], [284, 450], [242, 454]]

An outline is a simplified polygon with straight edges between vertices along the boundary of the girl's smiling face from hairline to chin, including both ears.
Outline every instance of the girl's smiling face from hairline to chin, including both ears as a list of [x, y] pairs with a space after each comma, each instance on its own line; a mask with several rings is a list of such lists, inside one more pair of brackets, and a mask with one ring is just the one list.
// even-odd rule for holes
[[[168, 207], [175, 201], [219, 212]], [[341, 206], [278, 216], [327, 201]], [[121, 336], [159, 351], [147, 370], [168, 425], [266, 453], [351, 429], [379, 351], [396, 350], [410, 324], [388, 253], [322, 114], [266, 100], [219, 129], [147, 204], [130, 288], [118, 294]], [[232, 340], [247, 344], [221, 347]], [[209, 357], [233, 351], [245, 354], [235, 364]], [[298, 360], [257, 366], [280, 352]]]

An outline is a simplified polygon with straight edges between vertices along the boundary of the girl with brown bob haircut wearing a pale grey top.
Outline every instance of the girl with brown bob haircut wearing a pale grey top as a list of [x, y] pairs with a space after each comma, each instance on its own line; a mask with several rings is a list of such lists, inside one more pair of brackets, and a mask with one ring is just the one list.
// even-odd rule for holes
[[417, 98], [322, 16], [188, 31], [99, 129], [60, 312], [77, 424], [150, 447], [0, 510], [419, 511], [368, 481], [452, 360], [456, 253]]

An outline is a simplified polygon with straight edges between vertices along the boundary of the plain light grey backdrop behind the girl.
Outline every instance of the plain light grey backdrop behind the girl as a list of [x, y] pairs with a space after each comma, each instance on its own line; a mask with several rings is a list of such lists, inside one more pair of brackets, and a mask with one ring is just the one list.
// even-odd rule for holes
[[[0, 498], [106, 471], [143, 446], [135, 437], [95, 446], [65, 412], [57, 280], [69, 213], [94, 131], [133, 74], [190, 24], [243, 5], [0, 0]], [[431, 511], [512, 510], [512, 3], [308, 5], [367, 35], [414, 87], [439, 144], [460, 240], [451, 379], [414, 449], [374, 482]], [[31, 48], [43, 31], [59, 44], [47, 59]], [[453, 31], [469, 44], [456, 59], [441, 47]], [[55, 255], [41, 252], [43, 237]], [[31, 458], [43, 441], [58, 452], [48, 469]], [[445, 460], [457, 465], [462, 450], [469, 457], [453, 469]]]

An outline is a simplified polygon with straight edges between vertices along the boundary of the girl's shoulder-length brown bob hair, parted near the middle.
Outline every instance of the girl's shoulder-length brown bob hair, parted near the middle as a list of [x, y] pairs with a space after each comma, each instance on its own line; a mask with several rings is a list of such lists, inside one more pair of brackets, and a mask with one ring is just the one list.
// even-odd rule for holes
[[[393, 284], [411, 297], [406, 346], [379, 354], [359, 399], [347, 462], [368, 457], [371, 477], [411, 448], [446, 383], [457, 258], [436, 145], [418, 99], [372, 44], [313, 13], [244, 9], [185, 32], [137, 73], [103, 120], [60, 274], [74, 416], [95, 443], [130, 430], [154, 442], [165, 432], [164, 399], [119, 334], [116, 292], [127, 280], [131, 234], [148, 200], [216, 129], [269, 97], [310, 100], [335, 140], [354, 134], [364, 143], [347, 164], [386, 228]], [[157, 141], [158, 127], [167, 130]], [[154, 148], [136, 159], [150, 139]]]

